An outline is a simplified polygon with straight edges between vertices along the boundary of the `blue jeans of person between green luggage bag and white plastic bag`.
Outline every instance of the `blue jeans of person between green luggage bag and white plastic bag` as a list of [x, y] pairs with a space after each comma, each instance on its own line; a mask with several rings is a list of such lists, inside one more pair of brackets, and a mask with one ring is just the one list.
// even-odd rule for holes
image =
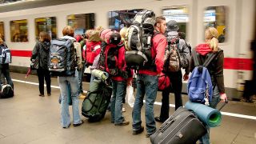
[[111, 122], [114, 124], [122, 123], [125, 118], [122, 116], [122, 98], [125, 93], [126, 89], [126, 81], [112, 81], [113, 97], [111, 98]]

